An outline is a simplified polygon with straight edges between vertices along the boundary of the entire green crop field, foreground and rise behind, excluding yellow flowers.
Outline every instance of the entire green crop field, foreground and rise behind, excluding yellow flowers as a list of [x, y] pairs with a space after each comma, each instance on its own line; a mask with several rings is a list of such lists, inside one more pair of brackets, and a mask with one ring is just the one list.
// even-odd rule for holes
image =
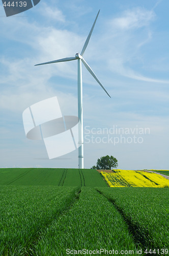
[[168, 188], [110, 188], [92, 169], [0, 169], [0, 182], [1, 256], [169, 254]]

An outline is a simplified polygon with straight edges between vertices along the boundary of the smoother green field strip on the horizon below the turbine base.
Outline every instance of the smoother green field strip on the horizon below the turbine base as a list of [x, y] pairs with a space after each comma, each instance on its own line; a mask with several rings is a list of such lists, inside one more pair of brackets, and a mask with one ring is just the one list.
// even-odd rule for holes
[[0, 185], [107, 186], [97, 170], [0, 168]]

